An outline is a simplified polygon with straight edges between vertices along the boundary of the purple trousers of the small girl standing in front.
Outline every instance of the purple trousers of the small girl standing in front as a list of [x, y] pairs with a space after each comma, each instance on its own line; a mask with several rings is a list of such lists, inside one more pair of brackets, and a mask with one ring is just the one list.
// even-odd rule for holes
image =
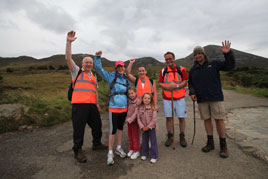
[[151, 142], [151, 157], [153, 159], [157, 159], [158, 158], [158, 148], [157, 148], [155, 129], [151, 129], [151, 130], [142, 132], [141, 156], [148, 156], [149, 155], [149, 141]]

